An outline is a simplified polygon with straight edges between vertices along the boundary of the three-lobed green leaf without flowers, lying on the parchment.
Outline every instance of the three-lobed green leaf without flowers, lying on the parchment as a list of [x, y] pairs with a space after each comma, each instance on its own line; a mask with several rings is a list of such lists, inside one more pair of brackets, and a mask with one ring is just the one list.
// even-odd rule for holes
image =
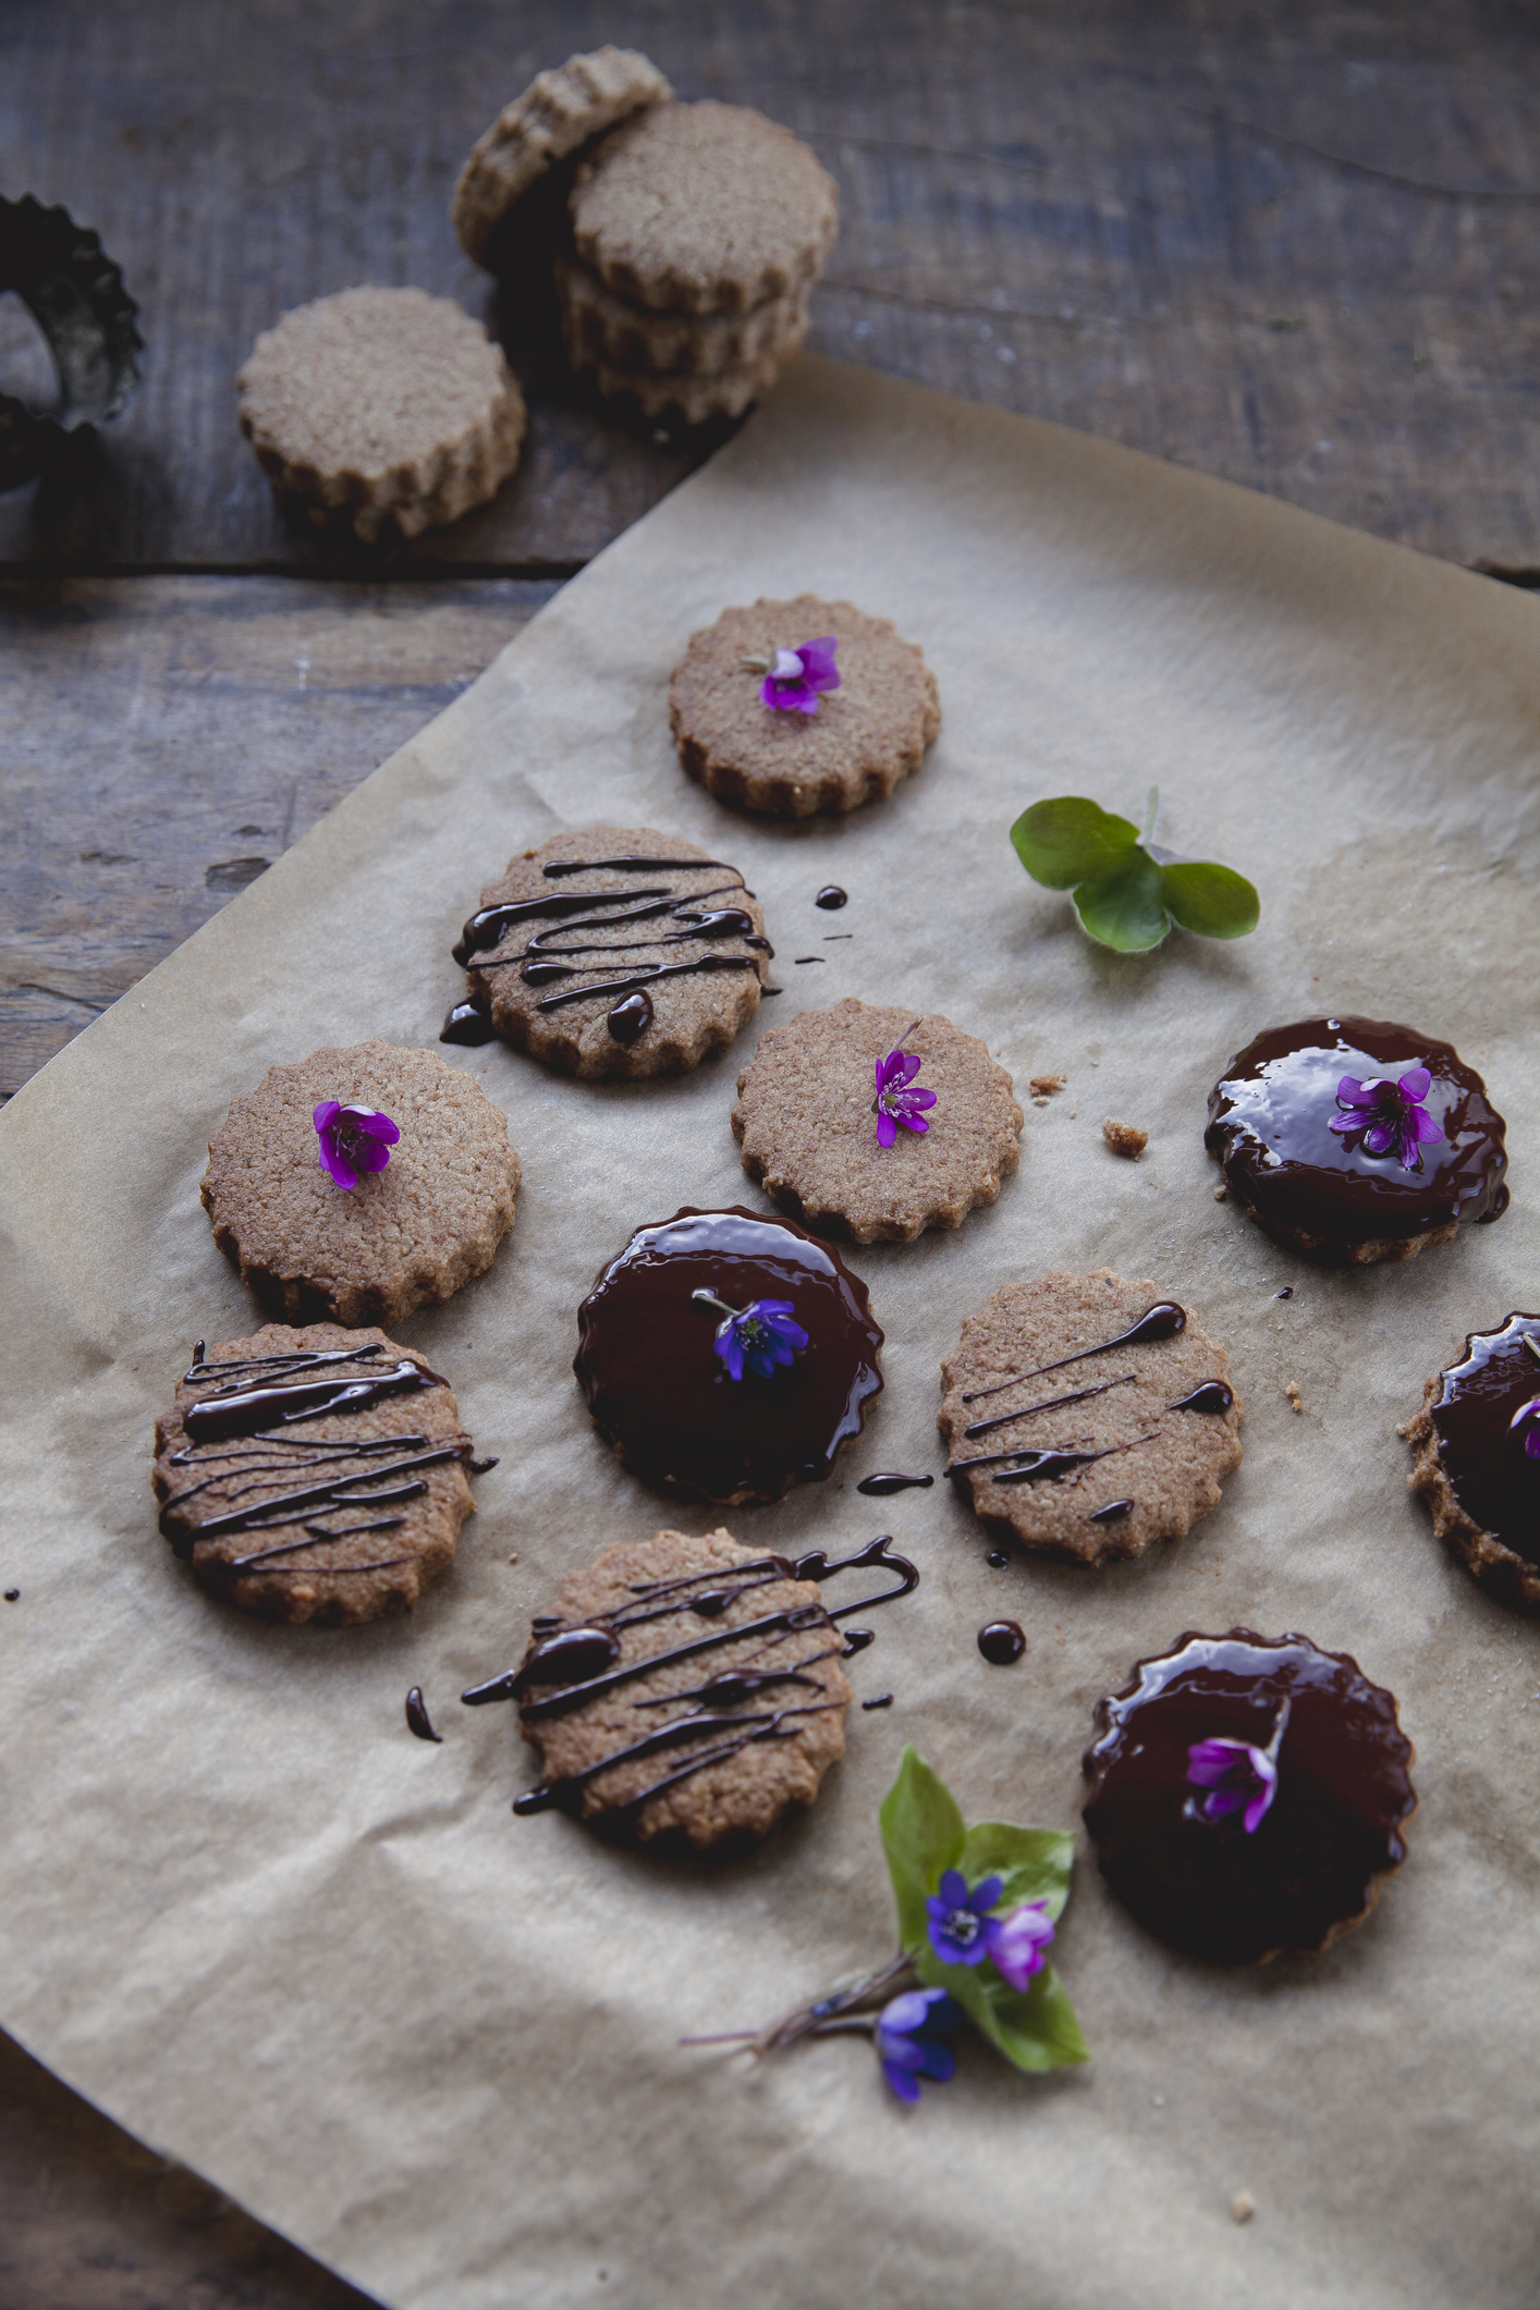
[[1101, 947], [1141, 954], [1173, 922], [1198, 938], [1244, 938], [1261, 919], [1251, 882], [1233, 866], [1161, 850], [1150, 841], [1157, 808], [1157, 785], [1143, 827], [1085, 795], [1057, 795], [1021, 813], [1011, 843], [1034, 882], [1069, 892], [1081, 929]]

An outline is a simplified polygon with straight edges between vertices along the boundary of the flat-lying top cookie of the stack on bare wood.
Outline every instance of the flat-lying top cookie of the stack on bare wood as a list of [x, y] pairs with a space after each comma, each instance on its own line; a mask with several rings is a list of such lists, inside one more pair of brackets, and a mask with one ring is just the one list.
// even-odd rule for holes
[[801, 289], [833, 247], [838, 185], [743, 104], [663, 104], [577, 169], [573, 240], [589, 273], [674, 312], [748, 312]]

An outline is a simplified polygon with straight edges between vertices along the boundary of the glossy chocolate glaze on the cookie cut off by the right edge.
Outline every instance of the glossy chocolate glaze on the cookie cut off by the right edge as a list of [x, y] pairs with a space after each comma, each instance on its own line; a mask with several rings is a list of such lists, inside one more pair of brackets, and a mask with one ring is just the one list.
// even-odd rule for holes
[[1540, 1460], [1524, 1439], [1540, 1418], [1515, 1418], [1540, 1398], [1540, 1314], [1510, 1314], [1501, 1331], [1473, 1331], [1461, 1363], [1438, 1379], [1429, 1404], [1438, 1465], [1473, 1525], [1526, 1564], [1540, 1564]]

